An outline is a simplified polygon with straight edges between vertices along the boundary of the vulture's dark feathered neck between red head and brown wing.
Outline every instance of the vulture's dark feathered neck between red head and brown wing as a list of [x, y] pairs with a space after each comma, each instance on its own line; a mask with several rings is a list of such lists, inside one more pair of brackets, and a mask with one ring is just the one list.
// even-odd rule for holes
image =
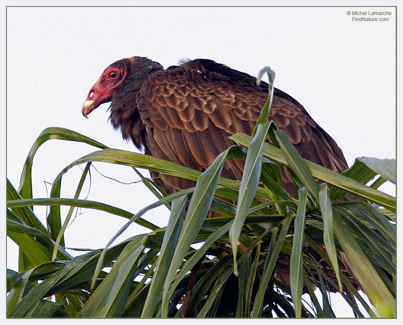
[[136, 97], [145, 80], [163, 67], [144, 57], [130, 60], [133, 62], [131, 71], [112, 96], [109, 120], [115, 130], [121, 130], [124, 140], [132, 140], [140, 149], [145, 145], [146, 130], [136, 106]]

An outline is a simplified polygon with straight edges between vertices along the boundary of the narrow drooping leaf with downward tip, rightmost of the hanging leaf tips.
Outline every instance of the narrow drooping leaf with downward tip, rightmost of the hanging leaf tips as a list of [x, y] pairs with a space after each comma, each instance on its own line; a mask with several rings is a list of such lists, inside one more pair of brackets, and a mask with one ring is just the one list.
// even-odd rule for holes
[[333, 212], [331, 209], [331, 201], [328, 194], [327, 185], [322, 183], [319, 185], [319, 205], [323, 218], [323, 243], [329, 256], [331, 266], [336, 274], [339, 284], [339, 290], [342, 291], [342, 282], [340, 280], [339, 261], [337, 258], [336, 248], [333, 238]]

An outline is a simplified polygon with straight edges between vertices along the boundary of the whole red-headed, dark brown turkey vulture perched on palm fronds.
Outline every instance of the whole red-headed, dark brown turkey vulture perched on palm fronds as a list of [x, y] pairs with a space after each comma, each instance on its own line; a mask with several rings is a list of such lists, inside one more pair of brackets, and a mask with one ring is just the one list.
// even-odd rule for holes
[[[123, 139], [144, 152], [198, 171], [205, 170], [228, 148], [228, 136], [251, 134], [267, 99], [268, 85], [209, 59], [195, 59], [163, 69], [158, 62], [133, 56], [109, 65], [88, 93], [82, 106], [85, 117], [111, 102], [110, 121]], [[270, 118], [283, 129], [305, 159], [334, 172], [348, 168], [337, 143], [294, 98], [274, 90]], [[240, 180], [244, 161], [228, 158], [223, 177]], [[286, 190], [297, 191], [284, 167]], [[152, 177], [158, 177], [151, 172]], [[193, 187], [193, 181], [161, 175], [156, 183], [167, 193]]]

